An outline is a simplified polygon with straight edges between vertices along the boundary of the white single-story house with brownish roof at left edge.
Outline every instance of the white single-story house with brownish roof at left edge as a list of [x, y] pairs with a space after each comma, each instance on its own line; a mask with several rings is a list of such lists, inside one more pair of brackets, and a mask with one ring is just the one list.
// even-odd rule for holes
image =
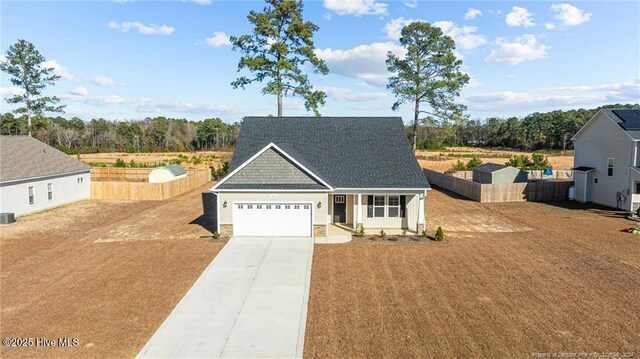
[[20, 216], [90, 196], [91, 167], [28, 136], [0, 136], [0, 212]]

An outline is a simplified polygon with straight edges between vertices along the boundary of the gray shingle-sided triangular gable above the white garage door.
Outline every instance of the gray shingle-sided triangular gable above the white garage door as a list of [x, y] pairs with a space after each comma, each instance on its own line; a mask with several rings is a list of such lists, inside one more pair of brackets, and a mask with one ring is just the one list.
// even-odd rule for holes
[[236, 172], [226, 183], [315, 184], [317, 182], [294, 163], [270, 148]]

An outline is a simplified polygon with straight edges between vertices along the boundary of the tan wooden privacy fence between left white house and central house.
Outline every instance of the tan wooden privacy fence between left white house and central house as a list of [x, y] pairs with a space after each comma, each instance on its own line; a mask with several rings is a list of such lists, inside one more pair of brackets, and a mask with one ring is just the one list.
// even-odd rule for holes
[[189, 169], [187, 176], [165, 183], [91, 181], [91, 198], [124, 201], [161, 201], [211, 181], [208, 169]]

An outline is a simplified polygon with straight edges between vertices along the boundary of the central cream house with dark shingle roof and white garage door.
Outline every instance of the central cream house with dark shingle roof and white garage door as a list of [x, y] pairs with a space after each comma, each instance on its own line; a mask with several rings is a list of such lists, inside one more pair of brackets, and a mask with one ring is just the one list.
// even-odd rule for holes
[[430, 186], [400, 117], [247, 117], [229, 171], [211, 188], [224, 235], [425, 226]]

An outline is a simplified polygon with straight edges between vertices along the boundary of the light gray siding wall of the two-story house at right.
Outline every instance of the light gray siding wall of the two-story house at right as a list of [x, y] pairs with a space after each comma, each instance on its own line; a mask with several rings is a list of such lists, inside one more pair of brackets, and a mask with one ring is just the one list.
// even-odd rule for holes
[[[633, 166], [634, 141], [620, 126], [599, 112], [578, 134], [575, 140], [574, 165], [595, 168], [589, 173], [587, 190], [594, 203], [616, 208], [617, 192], [624, 192], [627, 201], [624, 209], [631, 209], [631, 193], [629, 171]], [[607, 176], [607, 161], [614, 159], [613, 176]], [[598, 184], [594, 178], [598, 178]], [[576, 176], [576, 199], [584, 198], [584, 177]], [[579, 183], [582, 182], [582, 183]], [[627, 192], [629, 190], [629, 192]], [[589, 199], [588, 199], [589, 200]]]

